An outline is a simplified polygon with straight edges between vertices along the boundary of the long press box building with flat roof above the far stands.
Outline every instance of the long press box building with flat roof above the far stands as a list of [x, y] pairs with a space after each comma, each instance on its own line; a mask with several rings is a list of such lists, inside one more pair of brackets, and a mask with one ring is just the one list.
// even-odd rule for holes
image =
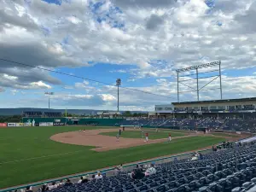
[[155, 105], [154, 113], [149, 117], [158, 118], [239, 118], [247, 119], [255, 116], [256, 97], [210, 100], [200, 102], [172, 102], [172, 104]]

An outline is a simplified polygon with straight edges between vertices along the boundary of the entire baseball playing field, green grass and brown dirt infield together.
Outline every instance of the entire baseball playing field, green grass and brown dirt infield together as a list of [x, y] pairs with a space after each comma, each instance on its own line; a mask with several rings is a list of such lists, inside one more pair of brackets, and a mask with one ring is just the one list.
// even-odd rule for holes
[[[85, 129], [80, 131], [81, 129]], [[0, 129], [0, 189], [108, 166], [206, 148], [227, 137], [187, 131], [125, 130], [114, 127], [14, 127]], [[172, 142], [167, 142], [168, 134]]]

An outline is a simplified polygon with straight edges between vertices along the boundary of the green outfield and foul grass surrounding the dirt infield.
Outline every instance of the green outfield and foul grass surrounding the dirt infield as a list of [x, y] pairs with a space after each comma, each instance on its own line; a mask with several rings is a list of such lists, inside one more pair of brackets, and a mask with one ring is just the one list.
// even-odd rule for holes
[[[0, 129], [0, 189], [18, 184], [101, 169], [137, 160], [177, 154], [222, 142], [218, 137], [188, 137], [106, 152], [93, 147], [57, 143], [50, 136], [80, 127], [28, 127]], [[96, 127], [86, 127], [96, 129]]]

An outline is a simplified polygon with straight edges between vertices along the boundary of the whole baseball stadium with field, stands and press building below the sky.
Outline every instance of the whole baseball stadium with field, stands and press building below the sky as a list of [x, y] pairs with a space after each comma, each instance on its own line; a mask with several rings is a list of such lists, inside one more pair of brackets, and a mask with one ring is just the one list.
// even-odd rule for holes
[[1, 192], [246, 189], [255, 107], [251, 97], [155, 105], [146, 117], [24, 111], [0, 124]]

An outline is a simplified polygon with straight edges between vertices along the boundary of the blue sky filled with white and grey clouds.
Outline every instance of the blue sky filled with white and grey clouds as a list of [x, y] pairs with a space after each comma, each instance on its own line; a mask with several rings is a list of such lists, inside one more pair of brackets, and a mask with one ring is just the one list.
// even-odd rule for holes
[[[51, 108], [114, 110], [119, 78], [120, 109], [150, 111], [177, 102], [176, 69], [211, 61], [224, 99], [255, 96], [255, 15], [255, 0], [2, 0], [0, 59], [58, 73], [0, 60], [0, 108], [47, 108], [50, 91]], [[218, 74], [203, 72], [199, 88]], [[183, 84], [180, 101], [195, 101]], [[218, 84], [200, 99], [219, 99]]]

